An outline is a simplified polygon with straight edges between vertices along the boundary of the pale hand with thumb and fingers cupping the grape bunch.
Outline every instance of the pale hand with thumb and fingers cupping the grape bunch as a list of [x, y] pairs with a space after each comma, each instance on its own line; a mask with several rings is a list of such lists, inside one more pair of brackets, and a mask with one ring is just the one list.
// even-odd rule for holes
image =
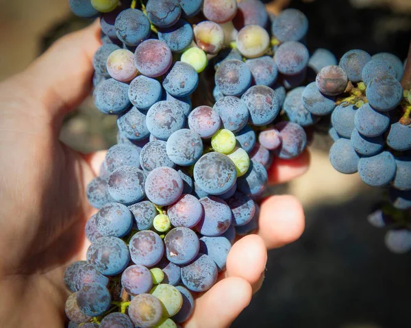
[[[103, 153], [77, 153], [58, 136], [64, 115], [90, 94], [92, 56], [100, 45], [95, 23], [0, 83], [0, 327], [66, 323], [64, 269], [84, 258], [84, 225], [95, 212], [85, 189]], [[298, 177], [308, 164], [307, 152], [275, 160], [271, 184]], [[303, 229], [295, 197], [266, 199], [259, 231], [234, 244], [226, 272], [197, 299], [185, 327], [229, 327], [262, 284], [267, 249], [297, 240]]]

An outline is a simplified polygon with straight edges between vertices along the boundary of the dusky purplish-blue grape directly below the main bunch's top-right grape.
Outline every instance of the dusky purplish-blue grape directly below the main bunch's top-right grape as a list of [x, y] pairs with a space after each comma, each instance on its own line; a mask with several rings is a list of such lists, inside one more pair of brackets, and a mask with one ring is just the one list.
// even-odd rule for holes
[[301, 73], [306, 68], [309, 58], [306, 46], [296, 41], [284, 42], [274, 55], [278, 71], [285, 75]]

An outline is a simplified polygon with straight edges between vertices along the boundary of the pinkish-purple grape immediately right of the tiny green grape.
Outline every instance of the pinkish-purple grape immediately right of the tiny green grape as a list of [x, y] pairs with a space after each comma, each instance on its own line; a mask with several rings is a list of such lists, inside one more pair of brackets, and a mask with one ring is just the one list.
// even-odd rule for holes
[[203, 216], [203, 207], [196, 197], [182, 194], [178, 201], [169, 206], [167, 215], [174, 227], [192, 228]]

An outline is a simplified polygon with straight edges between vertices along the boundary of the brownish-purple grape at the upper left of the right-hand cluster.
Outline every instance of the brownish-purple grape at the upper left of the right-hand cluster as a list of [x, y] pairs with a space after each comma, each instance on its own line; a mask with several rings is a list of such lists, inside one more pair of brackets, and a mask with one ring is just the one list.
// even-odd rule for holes
[[326, 96], [336, 96], [347, 88], [347, 73], [340, 66], [325, 66], [316, 76], [315, 83]]

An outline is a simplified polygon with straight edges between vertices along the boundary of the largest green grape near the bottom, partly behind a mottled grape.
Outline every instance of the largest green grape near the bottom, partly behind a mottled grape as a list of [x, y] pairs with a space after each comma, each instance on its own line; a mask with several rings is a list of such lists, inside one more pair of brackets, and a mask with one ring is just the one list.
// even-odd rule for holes
[[164, 317], [175, 316], [175, 314], [182, 308], [182, 294], [174, 286], [167, 283], [160, 283], [160, 285], [155, 286], [150, 290], [150, 294], [160, 300], [163, 307]]

